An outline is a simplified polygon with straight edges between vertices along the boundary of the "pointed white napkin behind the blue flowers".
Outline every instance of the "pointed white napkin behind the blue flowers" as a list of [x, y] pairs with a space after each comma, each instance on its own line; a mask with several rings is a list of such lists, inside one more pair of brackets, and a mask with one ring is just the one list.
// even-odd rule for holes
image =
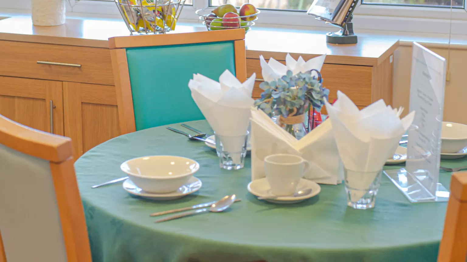
[[[260, 55], [262, 77], [264, 81], [271, 82], [285, 76], [287, 70], [291, 70], [294, 75], [300, 72], [304, 73], [306, 71], [310, 71], [311, 69], [320, 71], [323, 67], [325, 58], [326, 55], [320, 55], [305, 62], [300, 56], [298, 57], [298, 60], [295, 61], [290, 54], [287, 54], [285, 57], [285, 65], [283, 65], [272, 57], [269, 59], [269, 62], [266, 62], [264, 57]], [[314, 72], [313, 74], [316, 73]]]

